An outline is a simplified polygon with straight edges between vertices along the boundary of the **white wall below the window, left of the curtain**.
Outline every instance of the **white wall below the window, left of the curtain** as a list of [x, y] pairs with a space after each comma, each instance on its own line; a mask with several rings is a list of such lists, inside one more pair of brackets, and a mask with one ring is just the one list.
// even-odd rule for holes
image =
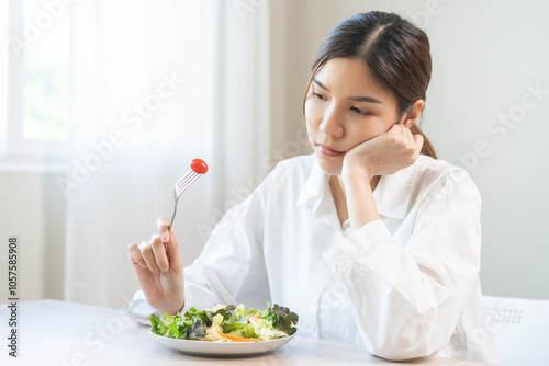
[[8, 238], [18, 236], [20, 300], [63, 299], [65, 198], [57, 187], [57, 176], [42, 172], [0, 173], [2, 295], [8, 290]]

